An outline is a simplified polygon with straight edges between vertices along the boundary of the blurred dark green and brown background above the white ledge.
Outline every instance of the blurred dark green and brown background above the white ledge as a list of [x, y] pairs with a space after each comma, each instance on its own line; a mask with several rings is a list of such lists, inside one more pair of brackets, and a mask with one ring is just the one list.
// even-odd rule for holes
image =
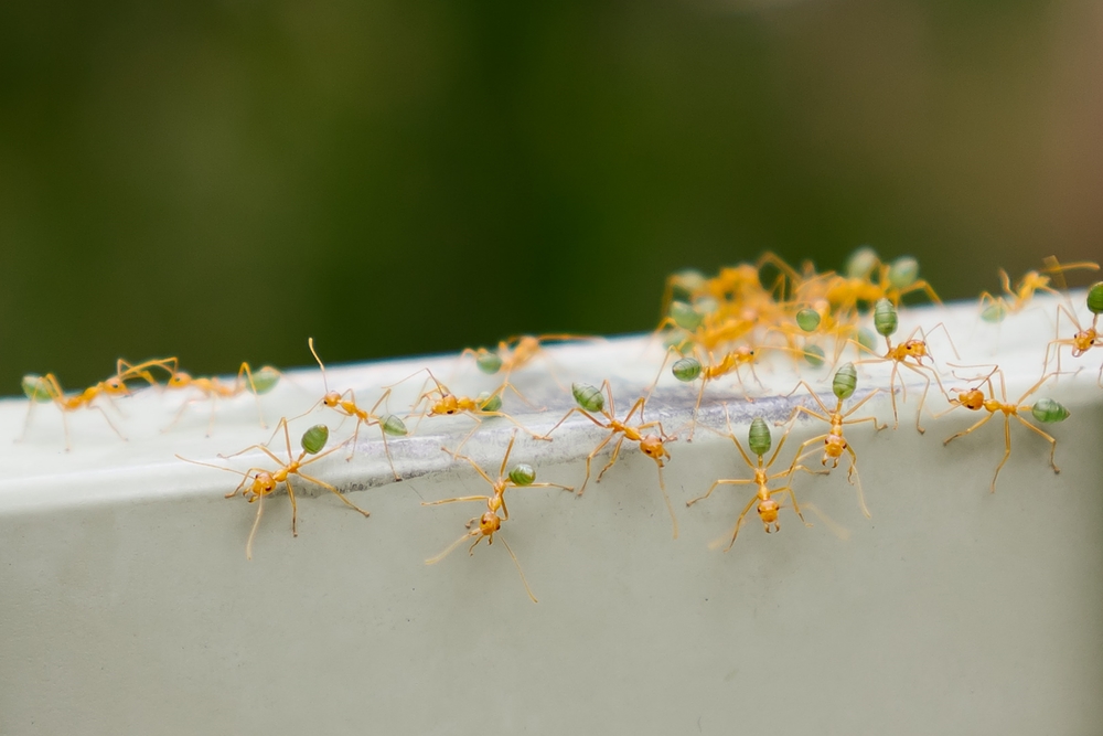
[[1097, 0], [6, 3], [0, 393], [645, 330], [768, 248], [973, 297], [1103, 256], [1100, 79]]

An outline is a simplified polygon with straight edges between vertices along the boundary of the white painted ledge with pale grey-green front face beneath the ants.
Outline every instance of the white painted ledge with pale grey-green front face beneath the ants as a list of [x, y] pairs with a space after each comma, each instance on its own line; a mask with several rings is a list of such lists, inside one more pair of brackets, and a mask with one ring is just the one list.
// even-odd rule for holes
[[[1041, 373], [1050, 311], [997, 331], [976, 323], [974, 305], [938, 317], [909, 310], [900, 334], [956, 320], [963, 362], [998, 355], [1014, 397]], [[942, 364], [944, 346], [934, 339], [932, 348]], [[609, 376], [625, 387], [617, 394], [623, 413], [631, 388], [656, 370], [657, 353], [645, 350], [628, 340], [553, 354], [565, 382]], [[120, 403], [130, 441], [85, 413], [73, 418], [69, 454], [55, 408], [40, 406], [26, 442], [0, 442], [0, 733], [1092, 733], [1103, 722], [1103, 390], [1100, 356], [1081, 360], [1089, 370], [1036, 396], [1072, 410], [1048, 427], [1060, 476], [1046, 442], [1013, 426], [1011, 458], [989, 493], [1002, 422], [943, 447], [977, 417], [957, 409], [925, 420], [920, 436], [911, 394], [897, 431], [848, 429], [871, 520], [842, 468], [796, 478], [801, 502], [844, 526], [845, 541], [815, 514], [806, 529], [783, 509], [780, 533], [765, 535], [750, 519], [730, 553], [709, 550], [750, 491], [721, 488], [685, 508], [716, 478], [747, 477], [730, 441], [707, 431], [671, 447], [677, 541], [655, 467], [634, 449], [581, 499], [511, 491], [502, 535], [537, 605], [500, 544], [424, 564], [482, 510], [419, 505], [485, 492], [439, 450], [467, 433], [464, 418], [426, 418], [417, 436], [393, 440], [409, 477], [401, 483], [384, 483], [377, 435], [362, 433], [371, 441], [352, 462], [338, 452], [312, 467], [372, 516], [300, 490], [292, 538], [279, 495], [266, 504], [249, 562], [255, 506], [223, 499], [236, 478], [173, 454], [223, 462], [216, 454], [264, 440], [251, 396], [219, 406], [206, 438], [203, 407], [160, 434], [181, 399], [139, 395]], [[375, 387], [424, 364], [332, 370], [330, 385], [354, 385], [371, 403]], [[432, 364], [447, 380], [456, 361]], [[760, 376], [788, 392], [791, 365], [773, 365]], [[885, 373], [865, 372], [859, 393]], [[537, 429], [570, 405], [544, 375], [536, 367], [517, 378], [555, 407], [516, 414]], [[470, 394], [493, 385], [470, 367], [450, 383]], [[706, 423], [716, 424], [715, 399], [730, 397], [732, 383], [708, 388], [716, 408]], [[392, 409], [419, 386], [404, 384], [407, 396]], [[298, 414], [319, 395], [317, 372], [295, 373], [264, 397], [266, 415]], [[674, 430], [694, 397], [695, 388], [664, 380], [649, 418]], [[790, 405], [732, 398], [740, 439], [754, 414], [781, 416]], [[0, 403], [0, 438], [19, 434], [25, 406]], [[507, 399], [507, 409], [518, 406]], [[890, 415], [887, 395], [866, 406]], [[292, 441], [318, 422], [338, 425], [319, 409], [295, 425]], [[334, 435], [351, 430], [346, 422]], [[820, 431], [799, 423], [790, 442]], [[465, 449], [493, 474], [510, 434], [507, 423], [490, 422]], [[518, 438], [511, 465], [580, 484], [581, 458], [602, 434], [580, 419], [555, 437]], [[786, 447], [782, 461], [790, 457]]]

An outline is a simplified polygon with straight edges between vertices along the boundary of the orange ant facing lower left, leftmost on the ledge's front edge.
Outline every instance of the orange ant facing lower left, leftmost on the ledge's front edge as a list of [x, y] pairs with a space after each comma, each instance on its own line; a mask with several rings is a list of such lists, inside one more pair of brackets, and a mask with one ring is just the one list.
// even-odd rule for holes
[[[344, 493], [339, 491], [333, 486], [330, 486], [325, 481], [319, 480], [313, 476], [308, 476], [307, 473], [302, 472], [302, 468], [310, 465], [311, 462], [317, 462], [318, 460], [324, 458], [326, 455], [336, 452], [339, 449], [344, 447], [345, 445], [344, 442], [341, 442], [340, 445], [322, 452], [321, 451], [322, 448], [325, 447], [325, 442], [329, 440], [330, 430], [323, 424], [314, 425], [306, 433], [303, 433], [301, 440], [302, 452], [299, 454], [299, 457], [295, 457], [295, 455], [291, 451], [291, 435], [288, 430], [287, 418], [282, 418], [279, 420], [279, 425], [277, 425], [276, 427], [276, 433], [272, 435], [274, 438], [277, 434], [279, 434], [280, 428], [283, 429], [283, 439], [287, 442], [287, 458], [288, 458], [287, 462], [280, 460], [265, 445], [250, 445], [249, 447], [246, 447], [244, 450], [239, 452], [234, 452], [233, 455], [218, 456], [222, 458], [234, 458], [237, 457], [238, 455], [248, 452], [249, 450], [260, 450], [269, 458], [271, 458], [274, 462], [279, 465], [278, 470], [266, 470], [264, 468], [255, 467], [255, 468], [249, 468], [247, 471], [243, 472], [240, 470], [234, 470], [233, 468], [223, 468], [222, 466], [211, 465], [210, 462], [200, 462], [199, 460], [189, 460], [188, 458], [181, 457], [179, 455], [176, 456], [184, 462], [191, 462], [192, 465], [204, 466], [207, 468], [216, 468], [218, 470], [225, 470], [226, 472], [233, 472], [242, 476], [242, 482], [237, 484], [237, 488], [227, 493], [226, 498], [232, 499], [235, 495], [237, 495], [238, 492], [240, 492], [242, 497], [249, 503], [253, 503], [254, 501], [257, 502], [257, 516], [253, 522], [253, 529], [249, 531], [249, 540], [245, 545], [245, 556], [247, 559], [253, 559], [253, 538], [257, 535], [257, 529], [260, 526], [260, 515], [261, 513], [264, 513], [264, 499], [266, 495], [271, 495], [276, 491], [276, 487], [279, 486], [280, 483], [287, 486], [287, 495], [288, 498], [291, 499], [291, 535], [299, 536], [299, 531], [297, 529], [298, 506], [295, 501], [295, 489], [291, 487], [291, 476], [293, 474], [299, 476], [299, 478], [302, 478], [303, 480], [309, 480], [311, 483], [321, 486], [322, 488], [331, 491], [334, 495], [341, 499], [341, 501], [344, 502], [345, 505], [355, 509], [365, 516], [371, 515], [371, 513], [364, 511], [355, 503], [350, 501], [347, 498], [345, 498]], [[310, 458], [309, 460], [303, 461], [303, 458], [306, 458], [308, 455], [312, 455], [313, 457]], [[246, 488], [246, 486], [248, 486], [248, 488]]]

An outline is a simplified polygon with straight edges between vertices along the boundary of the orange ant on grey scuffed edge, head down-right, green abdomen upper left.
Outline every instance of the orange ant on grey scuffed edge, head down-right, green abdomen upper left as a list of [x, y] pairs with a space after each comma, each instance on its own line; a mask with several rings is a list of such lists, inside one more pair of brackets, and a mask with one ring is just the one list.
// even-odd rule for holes
[[[606, 407], [606, 399], [602, 395], [602, 391], [609, 396], [609, 406]], [[671, 499], [666, 495], [666, 484], [663, 482], [663, 460], [670, 459], [671, 454], [664, 446], [664, 442], [673, 442], [677, 437], [667, 437], [666, 433], [663, 430], [663, 424], [658, 420], [645, 422], [639, 425], [630, 425], [629, 422], [632, 419], [632, 415], [640, 412], [641, 417], [643, 416], [643, 407], [647, 402], [645, 396], [641, 396], [636, 399], [632, 408], [624, 416], [623, 419], [617, 418], [617, 409], [613, 406], [613, 392], [609, 386], [609, 381], [602, 381], [600, 388], [595, 388], [593, 386], [585, 384], [575, 384], [571, 386], [571, 393], [575, 395], [575, 401], [578, 406], [570, 408], [567, 414], [564, 415], [561, 419], [552, 429], [544, 435], [545, 439], [550, 439], [549, 435], [555, 431], [559, 425], [567, 420], [571, 414], [578, 413], [585, 416], [587, 419], [598, 425], [602, 429], [609, 430], [609, 436], [606, 437], [601, 442], [593, 448], [593, 451], [586, 456], [586, 480], [582, 481], [582, 487], [578, 491], [578, 495], [581, 497], [586, 492], [586, 484], [590, 481], [590, 463], [593, 461], [595, 456], [604, 449], [606, 445], [611, 442], [614, 437], [617, 437], [617, 445], [613, 446], [613, 455], [609, 458], [609, 462], [601, 472], [598, 473], [598, 478], [595, 482], [600, 483], [601, 477], [606, 474], [606, 471], [613, 467], [617, 462], [617, 458], [620, 456], [621, 445], [624, 440], [632, 442], [639, 442], [640, 451], [646, 455], [649, 458], [655, 461], [658, 466], [658, 489], [663, 492], [663, 501], [666, 502], [666, 510], [671, 514], [671, 523], [674, 526], [674, 538], [678, 538], [678, 520], [674, 516], [674, 506], [671, 505]], [[596, 418], [593, 414], [600, 414], [606, 418], [606, 422], [601, 422]], [[643, 430], [650, 429], [652, 427], [658, 427], [658, 435], [644, 435]]]

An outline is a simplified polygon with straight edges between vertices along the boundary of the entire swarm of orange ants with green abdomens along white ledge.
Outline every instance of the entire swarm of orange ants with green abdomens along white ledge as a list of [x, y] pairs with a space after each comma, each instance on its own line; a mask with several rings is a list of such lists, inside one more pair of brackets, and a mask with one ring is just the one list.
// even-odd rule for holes
[[[537, 431], [523, 425], [503, 410], [506, 392], [523, 402], [534, 412], [539, 412], [532, 402], [514, 385], [515, 375], [528, 369], [537, 359], [548, 363], [547, 375], [555, 386], [567, 393], [552, 370], [550, 361], [544, 346], [552, 342], [592, 340], [570, 334], [524, 335], [502, 341], [496, 348], [478, 350], [468, 349], [461, 354], [461, 360], [472, 358], [474, 366], [484, 374], [496, 376], [497, 385], [493, 391], [472, 396], [453, 392], [438, 378], [429, 369], [421, 369], [414, 375], [424, 373], [425, 383], [417, 399], [405, 416], [389, 413], [387, 404], [392, 392], [398, 384], [382, 386], [379, 394], [371, 408], [357, 402], [352, 388], [344, 392], [329, 387], [325, 366], [314, 349], [313, 339], [308, 340], [308, 346], [322, 372], [324, 394], [303, 414], [290, 419], [279, 420], [276, 431], [267, 442], [251, 445], [238, 452], [224, 458], [232, 458], [250, 451], [263, 454], [267, 459], [263, 467], [248, 470], [235, 470], [218, 465], [186, 460], [195, 465], [217, 468], [240, 476], [237, 487], [226, 494], [233, 498], [240, 493], [249, 503], [256, 503], [257, 510], [253, 527], [246, 543], [246, 555], [251, 557], [254, 538], [260, 524], [265, 499], [271, 495], [281, 484], [286, 487], [291, 502], [291, 531], [297, 535], [296, 491], [292, 482], [300, 480], [312, 483], [335, 494], [351, 509], [364, 516], [370, 515], [355, 503], [345, 498], [335, 486], [309, 474], [309, 466], [330, 456], [338, 450], [350, 447], [347, 460], [352, 460], [360, 441], [361, 429], [376, 427], [382, 439], [383, 451], [387, 458], [390, 473], [395, 481], [403, 480], [401, 473], [395, 467], [390, 442], [400, 440], [417, 431], [419, 424], [413, 428], [407, 426], [411, 417], [418, 423], [422, 418], [463, 415], [474, 423], [472, 429], [453, 449], [441, 448], [451, 456], [453, 462], [465, 462], [490, 484], [491, 490], [483, 495], [467, 495], [425, 502], [422, 505], [442, 505], [451, 503], [481, 503], [485, 510], [480, 515], [472, 516], [465, 525], [467, 531], [443, 552], [426, 561], [435, 564], [447, 557], [451, 552], [469, 542], [469, 554], [486, 541], [494, 543], [495, 535], [501, 533], [504, 522], [510, 520], [505, 493], [513, 488], [559, 488], [569, 493], [575, 489], [554, 482], [536, 482], [536, 470], [532, 465], [521, 462], [510, 468], [510, 456], [514, 450], [518, 433], [527, 434], [539, 442], [553, 441], [552, 435], [572, 415], [579, 415], [579, 422], [592, 423], [604, 435], [586, 456], [586, 476], [578, 488], [577, 495], [586, 491], [592, 472], [595, 458], [612, 446], [606, 465], [593, 477], [596, 483], [615, 465], [621, 457], [625, 444], [629, 448], [635, 446], [640, 451], [655, 462], [658, 476], [658, 488], [671, 518], [672, 534], [678, 536], [678, 523], [674, 505], [666, 491], [663, 469], [671, 459], [670, 446], [678, 439], [682, 431], [687, 431], [686, 441], [692, 441], [698, 428], [702, 407], [705, 403], [706, 388], [710, 383], [725, 376], [732, 376], [740, 390], [739, 396], [748, 403], [756, 399], [777, 396], [770, 394], [756, 372], [762, 356], [771, 352], [788, 355], [794, 367], [811, 366], [820, 369], [828, 365], [832, 376], [833, 398], [825, 402], [820, 394], [803, 378], [799, 378], [793, 388], [783, 397], [794, 394], [806, 394], [812, 404], [805, 406], [797, 403], [790, 415], [782, 420], [772, 423], [775, 427], [784, 427], [777, 448], [771, 454], [773, 437], [771, 423], [765, 416], [756, 416], [750, 423], [747, 434], [746, 449], [732, 429], [728, 405], [720, 403], [725, 415], [725, 429], [702, 426], [713, 434], [727, 437], [735, 445], [743, 463], [752, 477], [717, 479], [699, 498], [686, 502], [687, 506], [708, 499], [720, 486], [751, 486], [754, 493], [735, 520], [730, 534], [719, 543], [727, 541], [725, 550], [730, 550], [747, 521], [751, 509], [758, 513], [763, 530], [768, 533], [780, 531], [779, 523], [782, 503], [791, 504], [793, 512], [804, 521], [803, 512], [794, 490], [794, 478], [797, 471], [810, 474], [827, 474], [838, 467], [840, 460], [847, 462], [847, 480], [855, 487], [858, 504], [864, 514], [869, 511], [863, 497], [860, 477], [858, 474], [858, 452], [847, 440], [847, 427], [858, 424], [871, 424], [876, 430], [882, 430], [888, 424], [881, 424], [876, 416], [864, 414], [863, 407], [874, 396], [887, 393], [892, 409], [892, 427], [899, 426], [899, 406], [897, 387], [899, 384], [900, 401], [908, 399], [907, 377], [918, 378], [919, 398], [915, 405], [915, 430], [925, 433], [922, 426], [924, 407], [932, 418], [941, 417], [959, 408], [976, 413], [979, 417], [972, 426], [959, 431], [943, 441], [949, 445], [978, 430], [993, 417], [999, 416], [1004, 422], [1005, 451], [996, 466], [992, 478], [990, 490], [996, 490], [996, 482], [1011, 452], [1010, 426], [1013, 419], [1031, 433], [1042, 437], [1050, 445], [1049, 465], [1059, 472], [1056, 465], [1057, 439], [1040, 425], [1053, 425], [1067, 419], [1069, 410], [1051, 398], [1036, 398], [1032, 404], [1028, 399], [1049, 381], [1064, 372], [1061, 370], [1062, 349], [1070, 348], [1073, 359], [1088, 354], [1092, 348], [1103, 346], [1103, 333], [1100, 332], [1099, 319], [1103, 314], [1103, 281], [1090, 287], [1086, 294], [1088, 312], [1092, 316], [1090, 327], [1082, 327], [1077, 308], [1068, 300], [1063, 274], [1072, 269], [1097, 270], [1092, 263], [1060, 264], [1056, 258], [1047, 258], [1045, 267], [1029, 271], [1015, 286], [1007, 274], [1000, 271], [1003, 292], [998, 295], [984, 294], [981, 297], [979, 318], [986, 322], [999, 322], [1008, 316], [1021, 312], [1028, 307], [1037, 292], [1048, 292], [1062, 299], [1056, 314], [1057, 334], [1046, 345], [1042, 359], [1041, 375], [1034, 385], [1014, 401], [1008, 399], [1004, 371], [999, 365], [965, 365], [962, 364], [957, 349], [950, 337], [945, 324], [930, 326], [924, 330], [917, 327], [904, 337], [897, 335], [899, 327], [899, 310], [901, 300], [908, 295], [925, 298], [934, 303], [941, 303], [934, 289], [925, 280], [919, 278], [919, 265], [910, 257], [899, 258], [892, 263], [882, 262], [878, 255], [861, 248], [848, 259], [842, 273], [816, 271], [811, 263], [800, 268], [790, 266], [773, 254], [765, 254], [754, 264], [740, 264], [724, 268], [714, 277], [706, 277], [697, 271], [683, 271], [671, 276], [666, 282], [663, 296], [663, 319], [654, 332], [654, 339], [665, 345], [665, 354], [661, 361], [658, 373], [649, 386], [643, 388], [631, 403], [625, 414], [620, 415], [615, 408], [613, 384], [609, 380], [599, 386], [575, 383], [569, 388], [574, 401], [571, 408], [555, 425], [546, 431]], [[1071, 323], [1075, 332], [1068, 337], [1062, 332], [1062, 321]], [[872, 324], [870, 331], [866, 323]], [[941, 332], [950, 351], [959, 362], [945, 362], [942, 367], [935, 363], [931, 345], [932, 335]], [[878, 343], [884, 341], [882, 346]], [[853, 354], [848, 358], [847, 353]], [[847, 359], [846, 362], [843, 362]], [[673, 360], [673, 364], [671, 361]], [[690, 420], [684, 427], [672, 433], [664, 428], [661, 419], [646, 419], [645, 412], [656, 388], [666, 375], [667, 365], [674, 381], [683, 384], [696, 384], [696, 401]], [[888, 370], [887, 385], [857, 394], [859, 370], [865, 366], [882, 365]], [[1051, 365], [1053, 366], [1051, 370]], [[745, 375], [743, 371], [747, 374]], [[963, 377], [961, 372], [973, 373]], [[649, 374], [650, 375], [650, 374]], [[260, 396], [271, 391], [279, 382], [281, 374], [271, 366], [257, 371], [243, 363], [233, 382], [217, 377], [193, 377], [179, 367], [176, 358], [156, 359], [131, 364], [119, 360], [115, 373], [83, 392], [65, 394], [57, 378], [46, 375], [26, 375], [23, 377], [23, 392], [30, 399], [24, 437], [30, 425], [31, 415], [36, 404], [53, 403], [62, 413], [63, 420], [72, 413], [84, 409], [100, 412], [111, 429], [119, 436], [122, 434], [111, 423], [107, 413], [97, 402], [100, 397], [113, 399], [130, 395], [137, 387], [148, 386], [157, 391], [189, 391], [186, 399], [180, 406], [175, 417], [167, 427], [174, 426], [185, 409], [194, 403], [206, 401], [211, 405], [208, 434], [215, 418], [215, 406], [218, 401], [231, 399], [245, 393], [253, 394], [257, 401], [260, 424], [264, 426], [264, 414], [260, 408]], [[413, 376], [409, 376], [413, 377]], [[753, 381], [757, 388], [748, 385], [747, 378]], [[408, 378], [404, 378], [406, 381]], [[946, 387], [951, 381], [966, 384], [963, 387]], [[403, 383], [403, 382], [398, 382]], [[998, 393], [996, 385], [998, 384]], [[1103, 366], [1100, 369], [1096, 384], [1103, 387]], [[945, 406], [934, 412], [929, 405], [932, 395], [944, 399]], [[325, 425], [309, 428], [300, 439], [301, 451], [292, 449], [289, 423], [311, 414], [324, 406], [344, 418], [355, 420], [353, 433], [343, 441], [326, 449], [330, 431]], [[792, 454], [788, 463], [779, 462], [782, 448], [789, 439], [795, 422], [805, 417], [824, 425], [824, 430], [803, 442]], [[497, 476], [492, 477], [475, 460], [461, 451], [468, 440], [489, 419], [502, 419], [514, 425], [512, 437], [502, 456]], [[72, 447], [67, 422], [65, 427], [66, 449]], [[271, 449], [271, 442], [282, 435], [282, 448], [287, 460]], [[820, 457], [820, 467], [808, 462]], [[180, 457], [180, 456], [176, 456]], [[769, 459], [767, 459], [769, 457]], [[752, 459], [753, 458], [753, 459]], [[293, 480], [292, 480], [292, 477]], [[779, 501], [780, 499], [780, 501]], [[807, 508], [807, 504], [806, 504]], [[806, 523], [806, 522], [805, 522]], [[512, 557], [521, 574], [525, 590], [533, 601], [533, 595], [521, 569], [513, 550], [504, 537], [503, 546]]]

